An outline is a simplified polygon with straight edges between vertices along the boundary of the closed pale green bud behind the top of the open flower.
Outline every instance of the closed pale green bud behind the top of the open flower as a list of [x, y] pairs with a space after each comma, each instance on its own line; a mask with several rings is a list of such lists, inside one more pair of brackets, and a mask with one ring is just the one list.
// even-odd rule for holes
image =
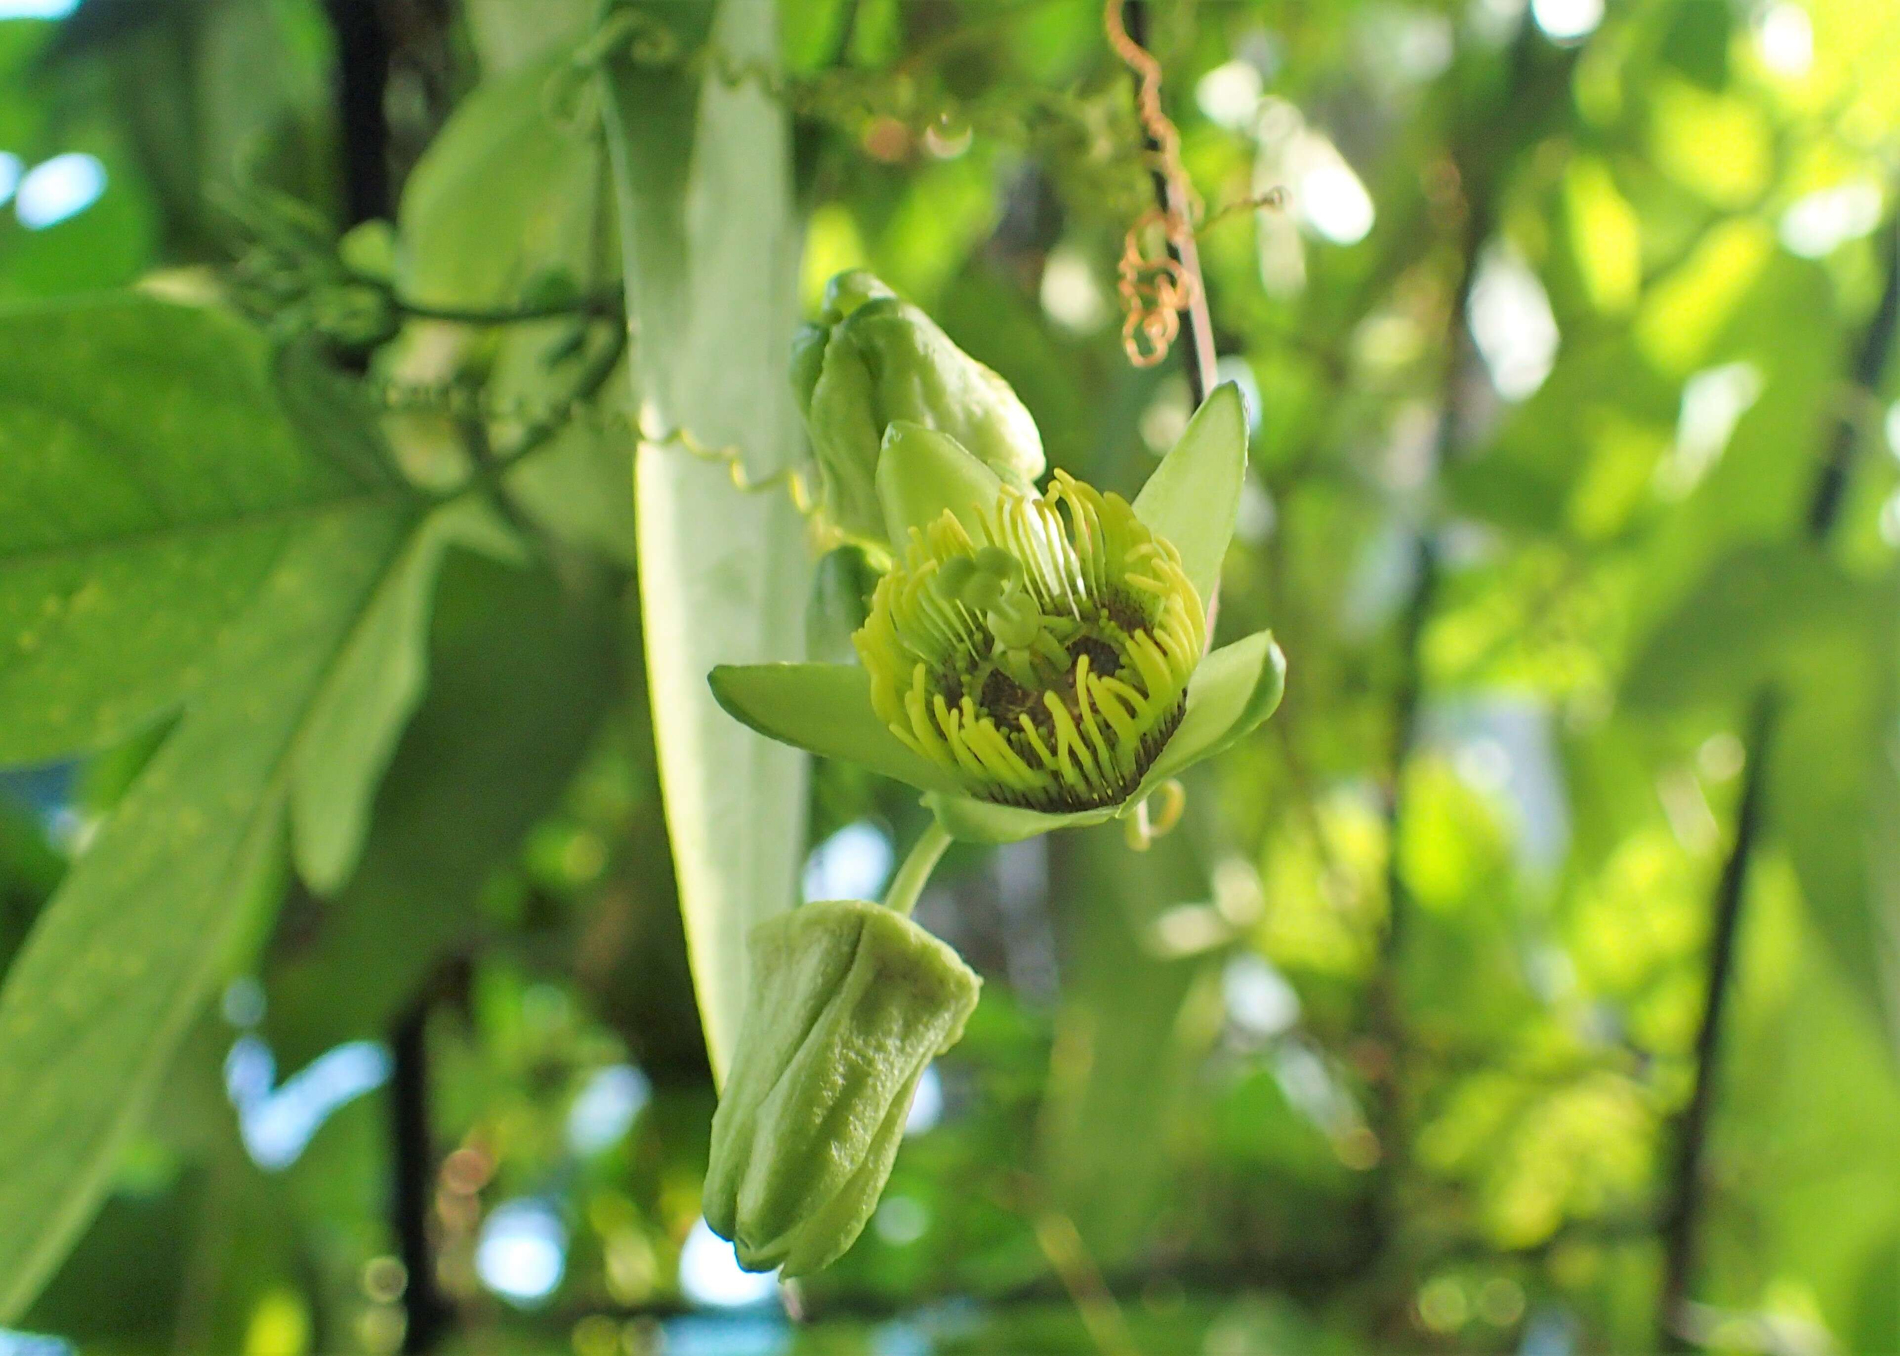
[[1028, 488], [1043, 473], [1041, 433], [1009, 382], [864, 270], [825, 289], [819, 323], [792, 342], [792, 387], [825, 509], [851, 536], [885, 537], [876, 473], [893, 420], [946, 433], [1005, 484]]

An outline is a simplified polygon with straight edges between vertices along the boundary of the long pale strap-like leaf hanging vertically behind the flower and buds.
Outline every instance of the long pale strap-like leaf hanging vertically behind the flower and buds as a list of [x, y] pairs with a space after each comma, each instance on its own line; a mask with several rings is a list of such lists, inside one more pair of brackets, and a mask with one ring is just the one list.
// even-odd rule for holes
[[[726, 0], [635, 11], [690, 49], [773, 63], [775, 6]], [[621, 55], [602, 80], [619, 194], [636, 395], [646, 420], [733, 444], [766, 475], [798, 448], [787, 382], [796, 230], [785, 106], [754, 82], [705, 82]], [[745, 936], [792, 902], [806, 758], [712, 701], [718, 663], [796, 659], [809, 562], [781, 494], [646, 444], [635, 467], [640, 604], [667, 824], [714, 1071], [747, 993]]]

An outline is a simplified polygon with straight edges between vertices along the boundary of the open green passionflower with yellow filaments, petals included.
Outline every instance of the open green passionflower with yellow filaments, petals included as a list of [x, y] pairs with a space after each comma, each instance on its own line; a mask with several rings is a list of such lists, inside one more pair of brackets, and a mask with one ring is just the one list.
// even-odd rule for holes
[[1037, 496], [906, 422], [876, 467], [908, 549], [855, 636], [863, 663], [714, 669], [752, 729], [908, 782], [952, 838], [999, 843], [1132, 815], [1273, 714], [1271, 632], [1203, 655], [1246, 473], [1231, 384], [1134, 503], [1062, 473]]

